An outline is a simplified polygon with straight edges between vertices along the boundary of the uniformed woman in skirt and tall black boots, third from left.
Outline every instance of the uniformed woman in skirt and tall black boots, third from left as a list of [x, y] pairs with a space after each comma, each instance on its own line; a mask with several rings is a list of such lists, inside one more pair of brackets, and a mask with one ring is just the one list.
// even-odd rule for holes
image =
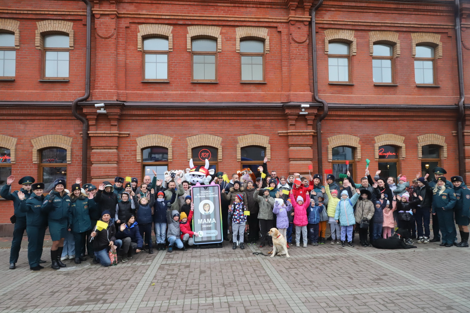
[[70, 210], [70, 197], [65, 192], [65, 180], [56, 179], [54, 189], [46, 196], [41, 210], [47, 214], [47, 223], [52, 239], [51, 260], [53, 269], [67, 267], [60, 257], [63, 250], [63, 239], [71, 225], [72, 214]]

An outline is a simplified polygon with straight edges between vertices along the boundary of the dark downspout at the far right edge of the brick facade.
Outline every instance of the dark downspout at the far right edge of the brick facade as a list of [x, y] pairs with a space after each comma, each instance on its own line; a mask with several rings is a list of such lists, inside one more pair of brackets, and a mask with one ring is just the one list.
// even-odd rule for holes
[[460, 0], [455, 0], [455, 40], [457, 46], [457, 69], [459, 74], [459, 114], [457, 115], [457, 146], [459, 153], [459, 176], [465, 178], [465, 155], [463, 150], [463, 120], [465, 111], [463, 101], [465, 100], [465, 91], [463, 89], [463, 65], [462, 65], [462, 34], [460, 30]]

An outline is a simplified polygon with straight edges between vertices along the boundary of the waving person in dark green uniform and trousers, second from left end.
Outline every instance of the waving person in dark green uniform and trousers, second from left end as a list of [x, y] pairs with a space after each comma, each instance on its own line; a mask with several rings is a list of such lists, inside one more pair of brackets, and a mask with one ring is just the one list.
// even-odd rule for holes
[[42, 267], [39, 263], [44, 244], [44, 234], [47, 228], [47, 215], [41, 212], [44, 201], [42, 191], [44, 183], [33, 183], [33, 193], [26, 199], [26, 195], [19, 191], [20, 211], [26, 214], [26, 233], [28, 233], [28, 262], [30, 269], [39, 271]]

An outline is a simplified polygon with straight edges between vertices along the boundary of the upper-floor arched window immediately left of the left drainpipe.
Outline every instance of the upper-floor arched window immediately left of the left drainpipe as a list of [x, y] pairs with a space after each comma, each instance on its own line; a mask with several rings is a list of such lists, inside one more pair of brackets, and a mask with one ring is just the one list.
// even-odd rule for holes
[[44, 36], [44, 77], [43, 79], [69, 79], [68, 35]]

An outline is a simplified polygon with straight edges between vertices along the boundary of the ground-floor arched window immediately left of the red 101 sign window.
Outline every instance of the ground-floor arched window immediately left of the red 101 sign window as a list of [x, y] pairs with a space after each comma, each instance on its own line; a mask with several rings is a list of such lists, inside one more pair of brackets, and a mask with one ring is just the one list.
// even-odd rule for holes
[[164, 179], [164, 172], [168, 170], [168, 148], [147, 147], [142, 149], [142, 178], [146, 175], [153, 177], [157, 172], [158, 179]]

